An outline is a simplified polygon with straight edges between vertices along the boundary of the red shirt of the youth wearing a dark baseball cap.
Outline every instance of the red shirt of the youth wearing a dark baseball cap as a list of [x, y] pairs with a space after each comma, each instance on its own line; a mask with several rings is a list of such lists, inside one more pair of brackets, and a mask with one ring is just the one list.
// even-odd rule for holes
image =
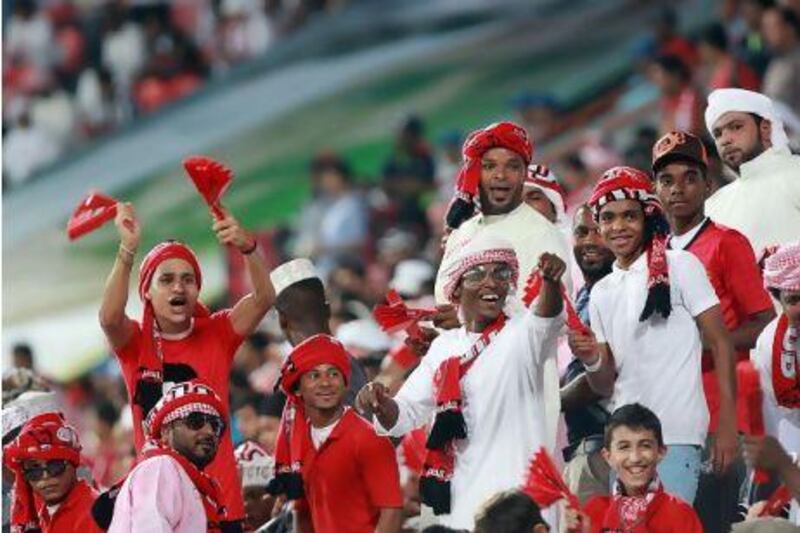
[[[697, 256], [706, 267], [729, 331], [738, 328], [749, 316], [772, 309], [747, 237], [708, 219], [685, 250]], [[748, 360], [747, 350], [736, 352], [739, 364]], [[703, 389], [711, 415], [709, 431], [713, 433], [719, 423], [719, 384], [714, 374], [714, 360], [707, 350], [703, 352]], [[750, 433], [747, 398], [740, 394], [737, 395], [736, 414], [739, 430]]]

